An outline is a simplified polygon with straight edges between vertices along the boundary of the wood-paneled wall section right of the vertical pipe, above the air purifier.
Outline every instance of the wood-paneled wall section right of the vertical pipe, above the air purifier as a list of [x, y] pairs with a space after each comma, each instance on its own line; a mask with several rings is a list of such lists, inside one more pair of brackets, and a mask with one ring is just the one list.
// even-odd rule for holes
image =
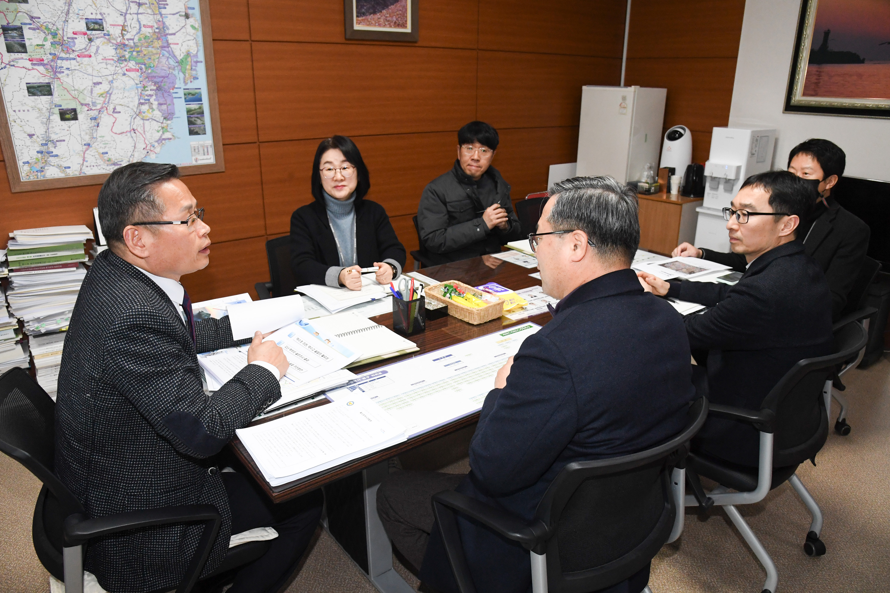
[[667, 89], [665, 131], [692, 130], [704, 163], [714, 127], [729, 122], [745, 0], [633, 0], [625, 84]]

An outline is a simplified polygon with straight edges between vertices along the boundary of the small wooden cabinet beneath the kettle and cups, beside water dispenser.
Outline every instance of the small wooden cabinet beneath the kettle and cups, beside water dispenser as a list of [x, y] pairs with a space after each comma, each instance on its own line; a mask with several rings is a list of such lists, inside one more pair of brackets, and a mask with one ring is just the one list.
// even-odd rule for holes
[[640, 198], [640, 249], [670, 255], [674, 248], [695, 240], [700, 197], [652, 194]]

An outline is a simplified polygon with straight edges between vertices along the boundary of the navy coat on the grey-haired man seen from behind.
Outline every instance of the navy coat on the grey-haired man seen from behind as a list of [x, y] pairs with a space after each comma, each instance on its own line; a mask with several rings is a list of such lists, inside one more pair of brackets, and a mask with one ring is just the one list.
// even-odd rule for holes
[[[566, 464], [643, 451], [676, 435], [694, 397], [682, 318], [643, 292], [633, 271], [600, 276], [526, 338], [506, 388], [485, 398], [470, 473], [457, 491], [531, 520]], [[476, 589], [530, 590], [528, 551], [468, 520], [458, 525]], [[435, 528], [420, 576], [455, 590]]]

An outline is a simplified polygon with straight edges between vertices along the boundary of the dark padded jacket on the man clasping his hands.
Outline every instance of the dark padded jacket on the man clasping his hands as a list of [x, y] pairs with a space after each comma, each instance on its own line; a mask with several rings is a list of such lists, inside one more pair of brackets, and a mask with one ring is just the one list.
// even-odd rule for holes
[[[522, 239], [522, 225], [510, 201], [510, 186], [500, 172], [489, 167], [478, 184], [456, 161], [451, 171], [424, 188], [417, 205], [417, 230], [425, 259], [433, 265], [497, 253], [502, 245]], [[509, 217], [506, 230], [490, 229], [482, 220], [480, 212], [496, 203]]]

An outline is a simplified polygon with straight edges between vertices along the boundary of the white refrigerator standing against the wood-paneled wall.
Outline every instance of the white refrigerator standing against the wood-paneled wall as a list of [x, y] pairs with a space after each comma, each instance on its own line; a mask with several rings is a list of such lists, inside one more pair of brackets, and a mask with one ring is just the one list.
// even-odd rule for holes
[[581, 87], [576, 174], [627, 183], [652, 164], [657, 175], [666, 97], [667, 89], [643, 86]]

